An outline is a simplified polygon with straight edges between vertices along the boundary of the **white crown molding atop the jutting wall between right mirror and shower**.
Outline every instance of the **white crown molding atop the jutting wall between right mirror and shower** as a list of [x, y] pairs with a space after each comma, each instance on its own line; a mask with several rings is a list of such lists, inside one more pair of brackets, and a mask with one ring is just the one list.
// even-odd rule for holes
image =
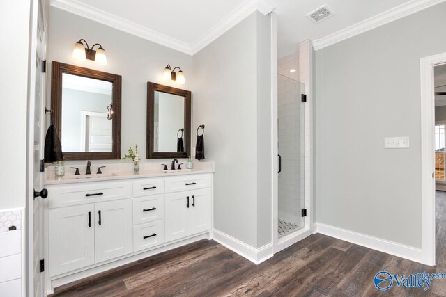
[[240, 4], [236, 9], [232, 10], [229, 15], [224, 17], [220, 22], [215, 24], [211, 29], [204, 33], [197, 42], [192, 44], [192, 54], [197, 54], [204, 47], [213, 42], [221, 35], [243, 21], [249, 15], [258, 10], [263, 15], [268, 15], [277, 7], [277, 4], [269, 0], [247, 0]]

